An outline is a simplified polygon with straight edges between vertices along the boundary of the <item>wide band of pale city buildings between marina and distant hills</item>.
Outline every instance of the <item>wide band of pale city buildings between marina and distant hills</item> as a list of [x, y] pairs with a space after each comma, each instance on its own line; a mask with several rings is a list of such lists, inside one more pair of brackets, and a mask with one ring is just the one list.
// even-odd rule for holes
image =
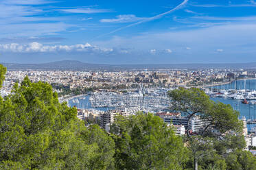
[[[27, 75], [32, 82], [48, 82], [55, 90], [93, 88], [97, 90], [120, 90], [127, 88], [174, 86], [216, 86], [234, 81], [235, 78], [255, 78], [255, 71], [243, 70], [159, 70], [159, 71], [8, 71], [2, 95], [10, 93], [15, 82], [22, 82]], [[67, 94], [71, 95], [71, 94]]]

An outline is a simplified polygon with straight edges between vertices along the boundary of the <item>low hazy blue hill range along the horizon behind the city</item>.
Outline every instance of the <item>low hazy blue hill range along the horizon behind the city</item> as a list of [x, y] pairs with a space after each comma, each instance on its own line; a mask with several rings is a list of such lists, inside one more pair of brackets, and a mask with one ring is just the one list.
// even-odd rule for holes
[[73, 60], [43, 64], [1, 63], [9, 70], [118, 71], [127, 69], [256, 69], [256, 62], [226, 64], [89, 64]]

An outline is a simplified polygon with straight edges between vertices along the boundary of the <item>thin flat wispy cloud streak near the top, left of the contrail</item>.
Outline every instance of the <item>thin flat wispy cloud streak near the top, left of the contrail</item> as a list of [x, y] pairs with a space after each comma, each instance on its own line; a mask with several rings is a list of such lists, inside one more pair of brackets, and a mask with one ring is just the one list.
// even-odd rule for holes
[[75, 14], [97, 14], [111, 12], [105, 9], [92, 9], [92, 8], [70, 8], [70, 9], [58, 9], [57, 11], [75, 13]]

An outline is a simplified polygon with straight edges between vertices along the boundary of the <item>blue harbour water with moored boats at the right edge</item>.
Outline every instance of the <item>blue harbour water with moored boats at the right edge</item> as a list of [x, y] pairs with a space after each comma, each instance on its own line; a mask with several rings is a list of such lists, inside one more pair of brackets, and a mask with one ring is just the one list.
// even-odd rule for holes
[[204, 88], [213, 101], [230, 104], [245, 117], [248, 130], [256, 126], [256, 80], [236, 80], [230, 84]]

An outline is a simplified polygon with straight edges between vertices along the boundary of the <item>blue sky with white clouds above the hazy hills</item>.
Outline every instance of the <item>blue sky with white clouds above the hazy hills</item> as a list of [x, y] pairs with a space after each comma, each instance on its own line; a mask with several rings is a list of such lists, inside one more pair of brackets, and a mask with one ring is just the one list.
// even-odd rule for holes
[[253, 0], [1, 0], [0, 62], [256, 62]]

